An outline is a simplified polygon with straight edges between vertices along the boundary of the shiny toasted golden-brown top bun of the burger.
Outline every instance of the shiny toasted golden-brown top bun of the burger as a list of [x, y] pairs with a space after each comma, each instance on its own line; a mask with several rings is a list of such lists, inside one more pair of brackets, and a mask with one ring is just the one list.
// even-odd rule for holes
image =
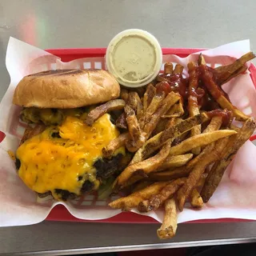
[[38, 108], [75, 108], [118, 98], [120, 86], [106, 70], [49, 70], [18, 83], [13, 103]]

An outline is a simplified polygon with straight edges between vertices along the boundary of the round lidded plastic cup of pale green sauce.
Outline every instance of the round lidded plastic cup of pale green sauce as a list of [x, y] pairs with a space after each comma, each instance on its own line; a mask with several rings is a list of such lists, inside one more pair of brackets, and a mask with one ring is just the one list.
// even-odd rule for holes
[[158, 75], [161, 66], [161, 46], [145, 30], [122, 31], [106, 50], [106, 67], [122, 86], [145, 86]]

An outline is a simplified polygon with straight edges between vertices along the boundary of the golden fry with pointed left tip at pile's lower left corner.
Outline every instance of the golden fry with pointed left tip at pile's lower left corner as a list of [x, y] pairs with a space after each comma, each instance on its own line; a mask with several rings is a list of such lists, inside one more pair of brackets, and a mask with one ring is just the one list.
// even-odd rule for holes
[[147, 186], [143, 190], [139, 190], [130, 194], [124, 198], [118, 198], [113, 202], [110, 202], [109, 206], [114, 209], [130, 210], [134, 207], [137, 207], [139, 202], [150, 198], [152, 194], [158, 194], [168, 182], [156, 182], [150, 186]]

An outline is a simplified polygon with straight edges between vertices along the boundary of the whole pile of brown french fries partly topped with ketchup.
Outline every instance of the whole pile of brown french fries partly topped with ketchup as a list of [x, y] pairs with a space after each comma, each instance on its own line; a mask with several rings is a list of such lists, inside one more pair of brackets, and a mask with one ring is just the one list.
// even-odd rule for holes
[[[157, 234], [172, 238], [185, 203], [202, 208], [208, 202], [226, 167], [254, 133], [253, 118], [233, 106], [222, 90], [254, 57], [250, 52], [212, 69], [201, 54], [198, 62], [188, 63], [188, 78], [182, 76], [183, 66], [166, 63], [164, 73], [146, 88], [122, 89], [122, 99], [106, 103], [115, 106], [111, 110], [123, 108], [116, 121], [123, 132], [102, 150], [103, 156], [110, 158], [121, 146], [133, 155], [113, 186], [131, 193], [110, 207], [140, 212], [164, 207]], [[106, 104], [92, 110], [88, 120], [98, 110], [108, 111]], [[234, 120], [241, 126], [234, 126]]]

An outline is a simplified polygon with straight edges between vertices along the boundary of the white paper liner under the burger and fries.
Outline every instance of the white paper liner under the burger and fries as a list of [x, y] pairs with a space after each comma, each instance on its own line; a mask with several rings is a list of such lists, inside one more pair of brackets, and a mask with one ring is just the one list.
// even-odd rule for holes
[[[244, 40], [206, 50], [203, 54], [207, 65], [214, 67], [229, 64], [234, 61], [234, 58], [239, 58], [248, 51], [250, 51], [250, 42]], [[191, 54], [187, 58], [165, 55], [163, 63], [169, 61], [186, 66], [187, 62], [197, 58], [198, 53]], [[119, 214], [120, 210], [112, 210], [107, 206], [114, 197], [100, 201], [94, 195], [88, 195], [84, 200], [78, 199], [71, 202], [46, 200], [38, 203], [34, 192], [18, 178], [14, 162], [6, 153], [7, 150], [17, 149], [26, 128], [26, 124], [18, 120], [21, 109], [12, 105], [14, 88], [25, 75], [53, 69], [104, 69], [104, 58], [81, 58], [72, 62], [62, 62], [60, 58], [44, 50], [10, 38], [6, 53], [6, 67], [10, 74], [10, 86], [0, 104], [0, 130], [6, 134], [6, 138], [0, 143], [0, 226], [21, 226], [42, 222], [50, 210], [58, 204], [66, 206], [74, 217], [87, 220], [110, 218]], [[186, 69], [184, 74], [187, 74]], [[235, 106], [255, 118], [256, 93], [249, 71], [232, 79], [224, 89]], [[178, 222], [214, 218], [256, 219], [255, 159], [256, 147], [251, 142], [246, 142], [226, 170], [210, 202], [206, 203], [202, 210], [193, 210], [187, 205], [178, 215]], [[162, 222], [162, 210], [146, 215]]]

